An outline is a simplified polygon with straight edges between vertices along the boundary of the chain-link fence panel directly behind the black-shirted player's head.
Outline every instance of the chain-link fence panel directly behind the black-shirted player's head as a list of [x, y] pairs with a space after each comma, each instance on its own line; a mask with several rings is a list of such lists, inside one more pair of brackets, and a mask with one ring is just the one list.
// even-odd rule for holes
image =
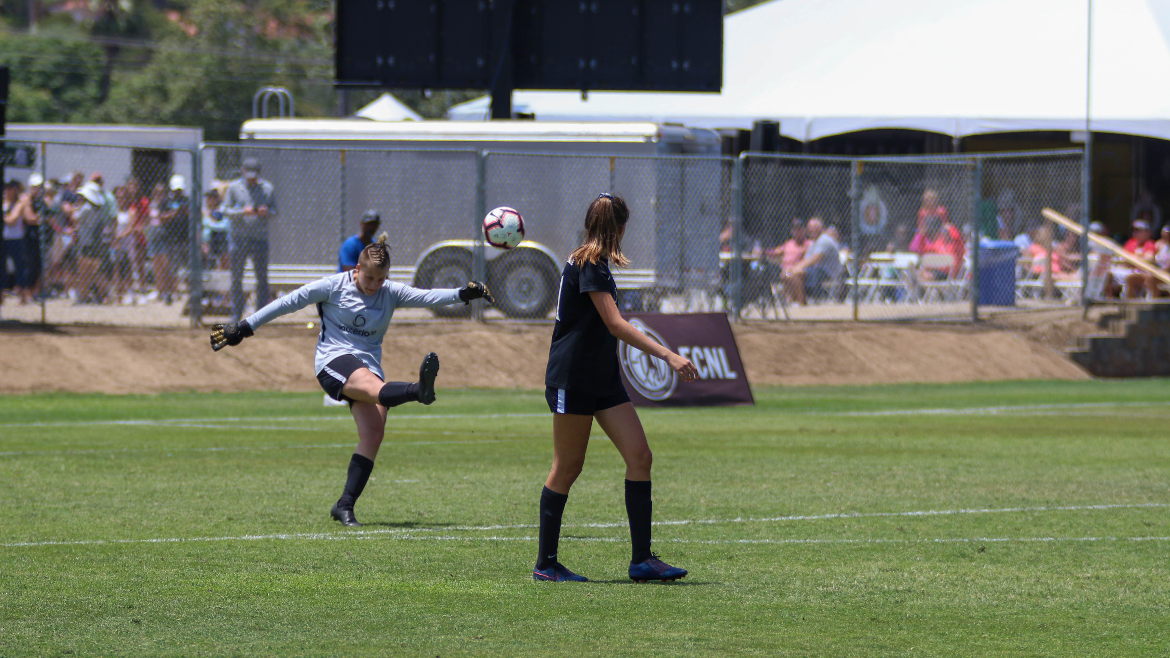
[[517, 208], [525, 238], [539, 245], [489, 252], [497, 305], [510, 317], [552, 310], [560, 269], [584, 238], [585, 212], [607, 192], [631, 210], [622, 238], [629, 268], [614, 272], [622, 310], [728, 309], [720, 233], [730, 216], [734, 165], [711, 157], [488, 153], [487, 206]]

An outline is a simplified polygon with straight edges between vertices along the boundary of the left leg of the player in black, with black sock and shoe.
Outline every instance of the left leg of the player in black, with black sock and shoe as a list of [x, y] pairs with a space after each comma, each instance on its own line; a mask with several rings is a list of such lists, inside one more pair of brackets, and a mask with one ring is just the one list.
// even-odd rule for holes
[[560, 541], [560, 518], [569, 501], [569, 490], [585, 465], [589, 432], [593, 416], [580, 414], [552, 415], [552, 469], [541, 492], [541, 533], [532, 577], [538, 581], [587, 581], [557, 561]]

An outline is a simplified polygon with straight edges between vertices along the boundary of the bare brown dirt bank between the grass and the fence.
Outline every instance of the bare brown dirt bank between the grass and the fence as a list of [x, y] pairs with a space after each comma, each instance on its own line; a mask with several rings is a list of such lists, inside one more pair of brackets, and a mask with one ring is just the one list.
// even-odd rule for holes
[[[392, 325], [383, 367], [418, 376], [424, 354], [443, 359], [443, 387], [544, 386], [550, 325]], [[745, 324], [736, 327], [756, 385], [1087, 379], [1053, 348], [1017, 331], [964, 325]], [[317, 333], [264, 327], [214, 353], [205, 331], [9, 325], [0, 330], [0, 393], [316, 390]]]

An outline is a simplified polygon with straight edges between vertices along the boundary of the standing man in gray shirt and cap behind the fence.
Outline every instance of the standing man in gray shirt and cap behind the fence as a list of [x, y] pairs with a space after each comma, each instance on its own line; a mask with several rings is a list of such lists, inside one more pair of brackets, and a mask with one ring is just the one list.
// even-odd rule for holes
[[260, 178], [260, 161], [246, 158], [242, 174], [227, 186], [223, 216], [228, 228], [228, 255], [232, 263], [232, 319], [243, 316], [243, 266], [252, 258], [256, 272], [256, 309], [268, 304], [268, 222], [276, 215], [273, 183]]

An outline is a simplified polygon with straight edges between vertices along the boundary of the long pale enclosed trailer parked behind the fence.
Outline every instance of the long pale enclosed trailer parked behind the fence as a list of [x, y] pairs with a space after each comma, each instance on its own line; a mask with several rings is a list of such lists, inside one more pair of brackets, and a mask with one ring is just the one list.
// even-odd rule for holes
[[[620, 288], [677, 289], [686, 272], [717, 275], [724, 216], [717, 199], [698, 196], [718, 195], [725, 162], [669, 158], [718, 155], [721, 136], [713, 130], [652, 123], [253, 119], [243, 123], [240, 138], [239, 145], [215, 145], [227, 150], [216, 160], [257, 158], [263, 176], [276, 186], [275, 278], [285, 270], [304, 272], [290, 275], [289, 285], [328, 271], [339, 241], [356, 230], [366, 208], [381, 214], [394, 258], [405, 265], [392, 268], [393, 278], [421, 288], [462, 285], [473, 273], [475, 227], [484, 208], [514, 206], [525, 217], [529, 240], [510, 251], [487, 248], [486, 275], [505, 316], [545, 317], [556, 303], [562, 259], [579, 243], [584, 207], [607, 191], [624, 194], [641, 220], [625, 240], [633, 266], [617, 276]], [[704, 165], [713, 171], [695, 176], [694, 167]], [[230, 169], [221, 168], [223, 174]], [[688, 168], [691, 180], [706, 182], [683, 182]], [[687, 202], [688, 195], [696, 200]], [[710, 216], [688, 224], [686, 208]], [[663, 222], [665, 216], [672, 221]], [[680, 247], [688, 240], [684, 233], [691, 241], [700, 236], [704, 248], [688, 256]], [[695, 268], [700, 252], [704, 264]]]

